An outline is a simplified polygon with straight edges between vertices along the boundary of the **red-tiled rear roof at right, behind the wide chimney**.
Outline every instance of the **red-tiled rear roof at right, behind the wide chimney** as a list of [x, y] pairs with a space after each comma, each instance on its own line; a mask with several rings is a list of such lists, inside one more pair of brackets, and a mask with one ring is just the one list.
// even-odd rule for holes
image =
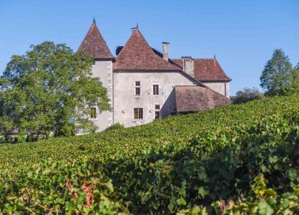
[[[182, 59], [172, 59], [183, 68]], [[194, 59], [194, 78], [198, 81], [230, 81], [215, 58]]]

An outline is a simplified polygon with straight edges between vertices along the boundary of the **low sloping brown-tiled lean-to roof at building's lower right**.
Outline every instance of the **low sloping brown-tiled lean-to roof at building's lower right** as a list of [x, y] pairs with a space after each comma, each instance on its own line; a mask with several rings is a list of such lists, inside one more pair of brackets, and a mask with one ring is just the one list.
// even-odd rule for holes
[[178, 112], [209, 110], [230, 103], [224, 95], [201, 86], [176, 86], [175, 98]]

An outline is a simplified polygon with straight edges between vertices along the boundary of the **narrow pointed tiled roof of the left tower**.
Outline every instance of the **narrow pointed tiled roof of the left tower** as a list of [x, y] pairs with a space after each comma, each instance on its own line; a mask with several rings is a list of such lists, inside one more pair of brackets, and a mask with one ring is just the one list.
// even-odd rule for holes
[[78, 51], [86, 51], [92, 58], [95, 59], [114, 58], [95, 22], [90, 26], [90, 29], [78, 48]]

